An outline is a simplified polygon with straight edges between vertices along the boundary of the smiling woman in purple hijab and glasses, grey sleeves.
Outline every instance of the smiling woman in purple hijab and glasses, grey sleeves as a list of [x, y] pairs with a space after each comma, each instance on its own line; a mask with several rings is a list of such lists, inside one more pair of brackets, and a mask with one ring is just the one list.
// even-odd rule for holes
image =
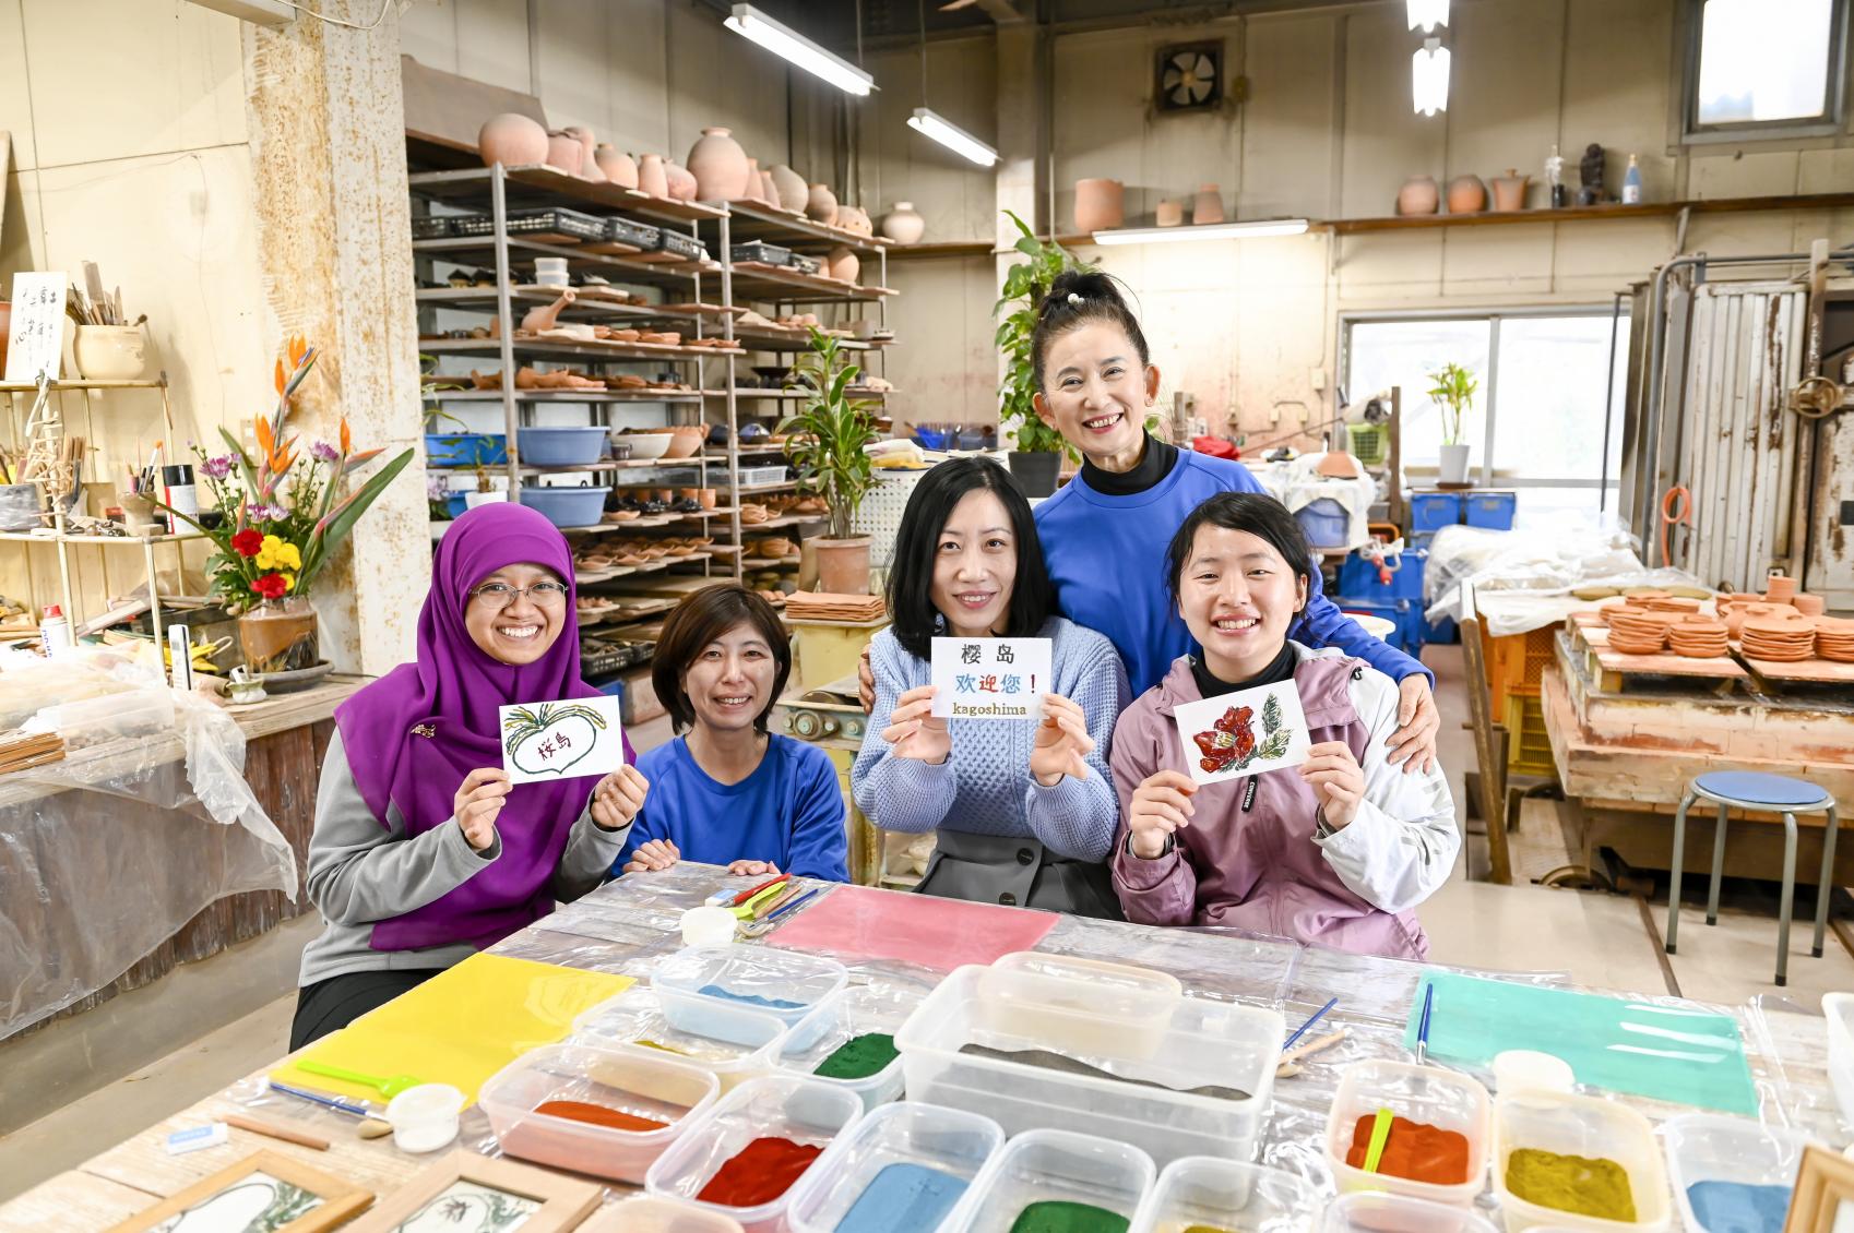
[[451, 523], [419, 658], [336, 708], [304, 879], [326, 929], [302, 951], [291, 1049], [601, 883], [649, 788], [630, 742], [590, 790], [512, 786], [499, 729], [501, 706], [597, 695], [565, 538], [515, 504]]

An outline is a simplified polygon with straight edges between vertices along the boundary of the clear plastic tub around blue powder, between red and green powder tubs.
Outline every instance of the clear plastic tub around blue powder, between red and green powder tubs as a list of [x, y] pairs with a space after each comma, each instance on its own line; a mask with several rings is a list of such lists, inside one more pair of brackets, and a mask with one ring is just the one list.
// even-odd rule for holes
[[[883, 1105], [844, 1135], [829, 1159], [819, 1161], [818, 1168], [792, 1189], [786, 1224], [792, 1233], [834, 1233], [857, 1200], [892, 1164], [938, 1170], [957, 1177], [970, 1190], [986, 1161], [1003, 1146], [1005, 1131], [997, 1122], [975, 1112], [907, 1100]], [[903, 1226], [907, 1213], [895, 1216], [897, 1229], [936, 1233], [959, 1220], [959, 1201], [955, 1200], [953, 1207], [933, 1224]]]

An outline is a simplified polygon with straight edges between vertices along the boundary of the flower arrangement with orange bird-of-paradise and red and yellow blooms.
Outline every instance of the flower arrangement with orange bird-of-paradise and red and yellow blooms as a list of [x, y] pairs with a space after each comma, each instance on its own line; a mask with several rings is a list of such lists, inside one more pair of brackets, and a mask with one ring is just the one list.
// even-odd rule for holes
[[345, 417], [337, 443], [315, 441], [308, 451], [298, 451], [298, 436], [289, 432], [289, 413], [297, 389], [315, 367], [315, 354], [297, 334], [287, 347], [289, 367], [278, 358], [276, 410], [258, 417], [254, 425], [256, 458], [224, 428], [219, 436], [230, 452], [208, 454], [195, 447], [200, 475], [222, 514], [217, 525], [206, 527], [163, 506], [219, 547], [206, 562], [206, 571], [226, 612], [243, 614], [267, 599], [308, 595], [360, 515], [412, 462], [408, 449], [365, 484], [343, 493], [349, 477], [382, 451], [356, 451]]

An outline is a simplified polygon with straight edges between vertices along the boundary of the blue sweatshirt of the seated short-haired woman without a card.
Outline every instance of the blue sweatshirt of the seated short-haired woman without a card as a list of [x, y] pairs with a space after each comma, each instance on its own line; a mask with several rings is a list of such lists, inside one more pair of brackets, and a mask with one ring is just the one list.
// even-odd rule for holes
[[831, 755], [790, 736], [771, 736], [758, 769], [738, 784], [712, 779], [688, 738], [641, 755], [651, 781], [643, 808], [612, 864], [621, 873], [640, 845], [669, 840], [682, 860], [771, 860], [782, 873], [849, 881], [844, 792]]

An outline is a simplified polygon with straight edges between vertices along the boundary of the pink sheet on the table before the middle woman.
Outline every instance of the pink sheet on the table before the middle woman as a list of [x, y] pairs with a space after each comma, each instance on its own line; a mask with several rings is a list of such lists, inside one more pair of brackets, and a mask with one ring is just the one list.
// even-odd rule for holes
[[1027, 951], [1055, 927], [1055, 912], [966, 903], [870, 886], [836, 886], [766, 940], [860, 962], [899, 959], [936, 972]]

